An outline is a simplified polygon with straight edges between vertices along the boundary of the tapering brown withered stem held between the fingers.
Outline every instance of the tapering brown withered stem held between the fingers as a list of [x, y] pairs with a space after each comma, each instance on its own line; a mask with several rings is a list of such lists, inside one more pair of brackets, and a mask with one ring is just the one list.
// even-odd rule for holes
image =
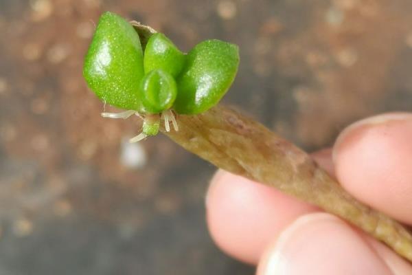
[[362, 228], [412, 262], [412, 236], [400, 223], [348, 194], [310, 156], [266, 127], [225, 107], [179, 115], [163, 133], [231, 173], [273, 186]]

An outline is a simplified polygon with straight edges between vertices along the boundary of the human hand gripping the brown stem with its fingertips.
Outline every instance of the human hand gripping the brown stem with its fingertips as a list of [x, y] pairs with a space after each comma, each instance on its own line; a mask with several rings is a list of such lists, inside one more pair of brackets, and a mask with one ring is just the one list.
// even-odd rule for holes
[[[412, 113], [347, 127], [333, 148], [312, 155], [348, 192], [412, 225]], [[331, 214], [249, 179], [218, 171], [207, 223], [227, 254], [258, 274], [412, 274], [412, 265]]]

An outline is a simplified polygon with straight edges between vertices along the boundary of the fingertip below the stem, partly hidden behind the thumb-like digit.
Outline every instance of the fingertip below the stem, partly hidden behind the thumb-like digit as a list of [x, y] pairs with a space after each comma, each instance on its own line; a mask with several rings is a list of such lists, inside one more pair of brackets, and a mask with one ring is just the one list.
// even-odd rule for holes
[[258, 263], [266, 245], [301, 214], [316, 208], [275, 188], [218, 171], [207, 192], [207, 224], [227, 254]]

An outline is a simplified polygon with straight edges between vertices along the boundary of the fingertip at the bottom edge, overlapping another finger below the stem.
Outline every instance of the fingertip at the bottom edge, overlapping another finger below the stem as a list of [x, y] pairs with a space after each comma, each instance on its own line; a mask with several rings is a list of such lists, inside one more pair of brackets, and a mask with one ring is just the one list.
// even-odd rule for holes
[[350, 225], [326, 213], [307, 214], [269, 246], [259, 275], [392, 274]]

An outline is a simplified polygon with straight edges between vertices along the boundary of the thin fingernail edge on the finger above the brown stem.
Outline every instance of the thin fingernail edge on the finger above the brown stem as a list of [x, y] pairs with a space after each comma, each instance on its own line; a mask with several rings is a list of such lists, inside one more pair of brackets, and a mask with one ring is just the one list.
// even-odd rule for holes
[[369, 118], [364, 118], [363, 120], [358, 120], [357, 122], [354, 122], [347, 126], [336, 138], [336, 142], [334, 143], [333, 150], [332, 150], [332, 161], [336, 163], [336, 151], [339, 149], [339, 146], [341, 146], [343, 140], [346, 139], [346, 137], [352, 133], [353, 131], [356, 131], [356, 129], [360, 129], [363, 127], [368, 127], [368, 126], [376, 126], [380, 124], [387, 124], [391, 123], [393, 121], [399, 121], [399, 120], [412, 120], [412, 113], [406, 113], [406, 112], [398, 112], [398, 113], [384, 113], [381, 115], [374, 115]]

